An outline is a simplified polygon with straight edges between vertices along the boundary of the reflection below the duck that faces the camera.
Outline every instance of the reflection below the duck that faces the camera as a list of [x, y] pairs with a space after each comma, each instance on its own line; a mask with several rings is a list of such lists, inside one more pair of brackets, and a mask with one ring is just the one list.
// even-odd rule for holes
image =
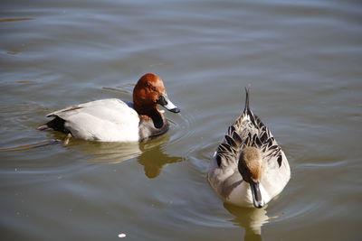
[[241, 208], [224, 203], [227, 209], [235, 218], [232, 220], [240, 227], [245, 228], [244, 241], [262, 240], [262, 225], [268, 222], [266, 207], [262, 209]]

